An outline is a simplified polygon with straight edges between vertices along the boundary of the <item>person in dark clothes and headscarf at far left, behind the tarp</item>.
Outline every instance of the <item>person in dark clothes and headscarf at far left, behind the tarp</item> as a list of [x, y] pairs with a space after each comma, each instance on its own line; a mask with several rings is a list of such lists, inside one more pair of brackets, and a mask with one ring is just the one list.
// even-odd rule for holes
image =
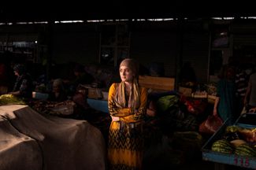
[[13, 70], [17, 79], [14, 84], [13, 91], [9, 92], [9, 94], [22, 98], [32, 98], [32, 76], [26, 72], [25, 66], [21, 64], [14, 65]]

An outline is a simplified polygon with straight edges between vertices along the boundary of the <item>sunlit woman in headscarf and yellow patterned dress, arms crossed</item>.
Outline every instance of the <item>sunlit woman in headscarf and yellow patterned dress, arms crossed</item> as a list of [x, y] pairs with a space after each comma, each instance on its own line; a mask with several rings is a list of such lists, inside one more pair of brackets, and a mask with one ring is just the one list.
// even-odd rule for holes
[[109, 169], [141, 169], [143, 159], [143, 117], [147, 89], [139, 87], [139, 67], [132, 59], [121, 62], [121, 83], [109, 88]]

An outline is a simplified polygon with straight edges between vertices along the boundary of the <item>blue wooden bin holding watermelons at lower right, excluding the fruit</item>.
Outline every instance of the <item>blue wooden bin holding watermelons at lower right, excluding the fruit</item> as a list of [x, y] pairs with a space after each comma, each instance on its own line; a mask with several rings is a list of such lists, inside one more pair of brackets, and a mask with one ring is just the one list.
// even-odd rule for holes
[[[253, 128], [256, 127], [256, 114], [245, 113], [236, 120], [236, 123], [239, 127]], [[241, 157], [234, 153], [220, 153], [211, 150], [213, 142], [221, 139], [224, 135], [224, 131], [227, 127], [227, 121], [219, 128], [219, 130], [211, 136], [211, 138], [202, 146], [202, 159], [204, 161], [213, 161], [221, 164], [231, 164], [243, 168], [256, 168], [256, 157]]]

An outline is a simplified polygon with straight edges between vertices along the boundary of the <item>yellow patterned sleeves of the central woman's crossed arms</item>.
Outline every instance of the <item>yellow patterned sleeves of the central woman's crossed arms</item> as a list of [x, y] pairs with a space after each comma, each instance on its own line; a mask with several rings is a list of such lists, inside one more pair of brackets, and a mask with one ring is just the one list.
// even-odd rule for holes
[[131, 108], [118, 108], [117, 105], [114, 102], [114, 95], [116, 92], [117, 84], [113, 83], [111, 87], [109, 88], [109, 114], [111, 116], [118, 116], [121, 118], [121, 120], [124, 120], [126, 122], [136, 122], [143, 118], [144, 114], [146, 113], [147, 109], [147, 89], [146, 88], [140, 88], [140, 105], [138, 112], [134, 113]]

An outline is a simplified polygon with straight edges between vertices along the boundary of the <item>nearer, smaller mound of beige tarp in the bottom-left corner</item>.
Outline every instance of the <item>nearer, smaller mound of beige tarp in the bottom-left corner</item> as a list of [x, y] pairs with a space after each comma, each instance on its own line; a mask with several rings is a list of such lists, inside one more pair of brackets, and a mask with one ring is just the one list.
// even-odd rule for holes
[[[25, 164], [24, 164], [25, 163]], [[42, 169], [38, 143], [0, 118], [0, 169]]]

